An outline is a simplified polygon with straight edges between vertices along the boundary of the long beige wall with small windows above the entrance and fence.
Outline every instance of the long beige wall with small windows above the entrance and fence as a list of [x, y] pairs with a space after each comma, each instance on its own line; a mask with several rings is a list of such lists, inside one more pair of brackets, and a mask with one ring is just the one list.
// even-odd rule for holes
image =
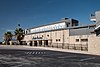
[[[43, 39], [52, 40], [52, 43], [68, 43], [68, 44], [85, 44], [81, 42], [81, 39], [88, 39], [88, 35], [78, 35], [78, 36], [69, 36], [69, 30], [57, 30], [43, 33], [36, 33], [31, 35], [26, 35], [24, 40], [32, 40], [33, 37], [42, 37]], [[60, 39], [60, 41], [56, 41]], [[79, 39], [79, 42], [76, 42], [76, 39]]]

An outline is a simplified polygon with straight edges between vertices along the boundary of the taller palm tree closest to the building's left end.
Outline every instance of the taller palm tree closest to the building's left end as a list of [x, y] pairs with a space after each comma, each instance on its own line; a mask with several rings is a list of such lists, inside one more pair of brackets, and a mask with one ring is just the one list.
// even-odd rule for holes
[[19, 44], [21, 44], [21, 40], [24, 39], [24, 30], [22, 28], [15, 29], [15, 37]]

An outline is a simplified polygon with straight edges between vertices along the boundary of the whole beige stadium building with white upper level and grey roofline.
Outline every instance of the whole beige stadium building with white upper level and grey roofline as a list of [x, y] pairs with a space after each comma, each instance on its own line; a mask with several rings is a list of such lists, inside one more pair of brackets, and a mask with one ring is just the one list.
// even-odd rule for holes
[[63, 18], [60, 21], [25, 29], [28, 45], [54, 47], [100, 55], [100, 11], [91, 15], [95, 24], [79, 26], [78, 20]]

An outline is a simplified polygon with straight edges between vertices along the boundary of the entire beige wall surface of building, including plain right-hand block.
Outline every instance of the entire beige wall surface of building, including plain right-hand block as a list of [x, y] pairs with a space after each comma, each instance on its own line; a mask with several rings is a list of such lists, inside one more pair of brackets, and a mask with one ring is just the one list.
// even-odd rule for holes
[[[25, 35], [24, 40], [29, 41], [32, 40], [33, 37], [37, 36], [43, 36], [43, 39], [52, 40], [50, 42], [53, 43], [53, 46], [62, 46], [62, 44], [57, 45], [54, 43], [65, 43], [64, 46], [67, 46], [67, 44], [79, 44], [79, 46], [80, 44], [88, 44], [88, 51], [86, 51], [87, 53], [100, 55], [100, 37], [96, 36], [95, 34], [69, 36], [69, 30], [57, 30]], [[57, 39], [60, 39], [60, 41], [56, 41]], [[79, 42], [77, 42], [76, 39], [79, 39]], [[81, 39], [88, 39], [88, 41], [82, 42]]]

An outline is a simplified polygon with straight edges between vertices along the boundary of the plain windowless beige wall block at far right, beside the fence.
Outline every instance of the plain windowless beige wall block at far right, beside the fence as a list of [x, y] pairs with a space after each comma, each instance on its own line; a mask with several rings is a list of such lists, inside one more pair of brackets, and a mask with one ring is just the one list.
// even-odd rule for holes
[[91, 34], [89, 36], [88, 49], [89, 53], [100, 55], [100, 37]]

